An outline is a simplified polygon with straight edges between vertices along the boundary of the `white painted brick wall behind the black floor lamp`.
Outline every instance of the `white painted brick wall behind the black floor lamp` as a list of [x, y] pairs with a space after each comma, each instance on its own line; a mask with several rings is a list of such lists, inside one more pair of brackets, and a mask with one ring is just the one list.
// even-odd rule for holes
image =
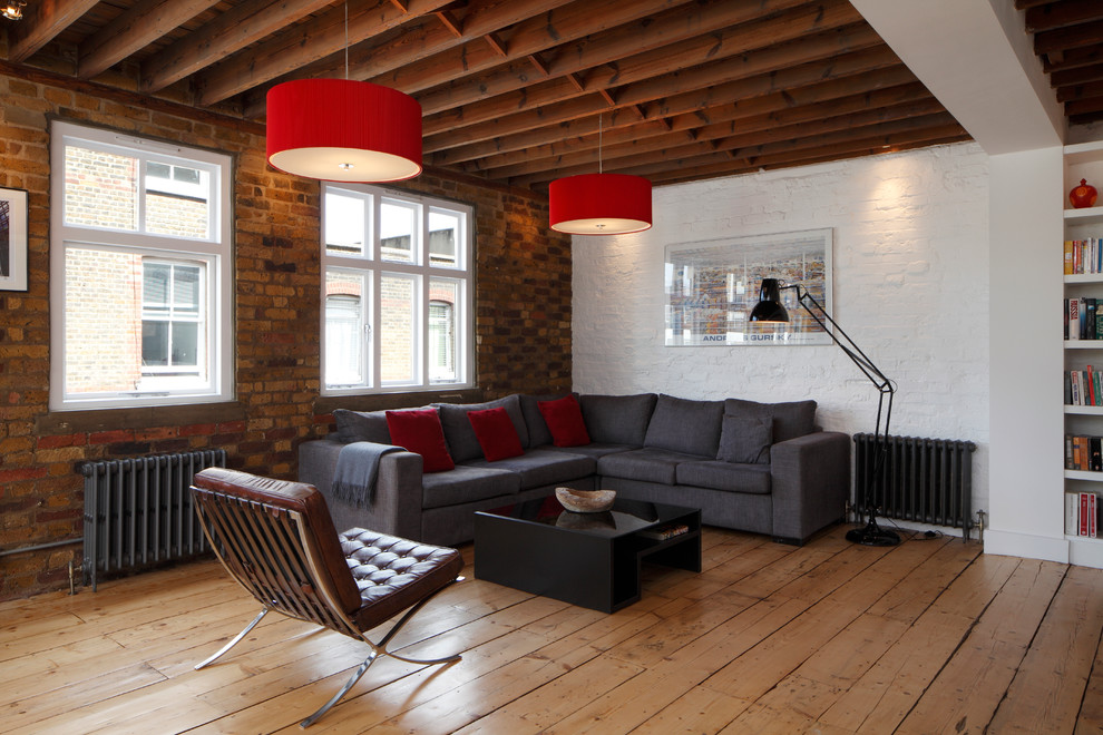
[[836, 346], [667, 347], [671, 244], [832, 227], [836, 321], [898, 385], [891, 433], [977, 443], [988, 498], [988, 158], [938, 146], [654, 189], [655, 226], [574, 238], [574, 388], [819, 402], [871, 431], [877, 391]]

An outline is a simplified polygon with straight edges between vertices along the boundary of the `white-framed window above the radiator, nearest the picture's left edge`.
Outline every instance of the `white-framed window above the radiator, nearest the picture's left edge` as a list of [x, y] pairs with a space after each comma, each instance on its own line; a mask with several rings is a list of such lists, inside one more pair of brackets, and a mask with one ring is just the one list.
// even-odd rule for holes
[[228, 156], [51, 126], [53, 410], [230, 400]]

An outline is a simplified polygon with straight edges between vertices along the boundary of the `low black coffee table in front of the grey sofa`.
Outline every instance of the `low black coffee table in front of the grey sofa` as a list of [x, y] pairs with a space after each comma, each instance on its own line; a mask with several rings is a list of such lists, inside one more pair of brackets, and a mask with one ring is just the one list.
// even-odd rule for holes
[[613, 612], [640, 599], [645, 558], [701, 571], [701, 511], [617, 498], [575, 513], [549, 496], [475, 513], [476, 578], [534, 595]]

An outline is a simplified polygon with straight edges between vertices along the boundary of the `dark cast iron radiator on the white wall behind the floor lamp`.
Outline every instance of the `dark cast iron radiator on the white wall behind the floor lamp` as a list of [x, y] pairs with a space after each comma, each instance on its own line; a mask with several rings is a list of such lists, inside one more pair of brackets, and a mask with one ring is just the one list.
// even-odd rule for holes
[[968, 538], [973, 525], [973, 452], [977, 445], [916, 437], [881, 437], [881, 441], [885, 465], [877, 481], [871, 477], [877, 459], [873, 434], [855, 434], [858, 508], [865, 508], [861, 493], [869, 487], [878, 516], [960, 528]]

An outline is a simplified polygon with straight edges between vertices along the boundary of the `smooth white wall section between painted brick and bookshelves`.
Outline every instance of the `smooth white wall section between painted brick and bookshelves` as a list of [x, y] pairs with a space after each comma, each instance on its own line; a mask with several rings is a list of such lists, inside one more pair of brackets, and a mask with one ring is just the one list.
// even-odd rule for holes
[[989, 159], [992, 530], [985, 551], [1068, 560], [1064, 540], [1061, 148]]

